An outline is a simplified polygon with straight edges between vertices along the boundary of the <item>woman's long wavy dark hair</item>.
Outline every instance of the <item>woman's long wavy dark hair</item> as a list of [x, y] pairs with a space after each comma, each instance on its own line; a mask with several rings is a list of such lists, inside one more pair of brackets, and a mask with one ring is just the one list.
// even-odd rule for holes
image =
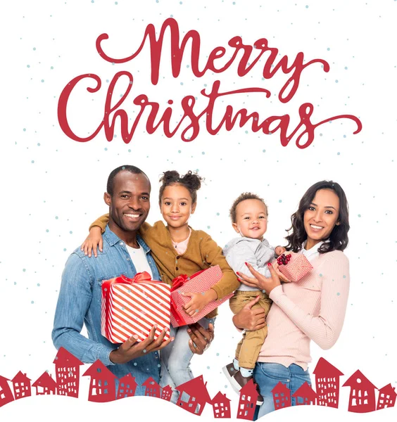
[[308, 234], [305, 231], [303, 224], [303, 215], [308, 210], [310, 204], [313, 202], [315, 194], [320, 189], [330, 189], [334, 191], [339, 198], [339, 225], [335, 225], [329, 238], [323, 239], [327, 242], [323, 243], [319, 248], [320, 253], [331, 252], [332, 250], [344, 250], [348, 245], [348, 231], [350, 225], [348, 224], [348, 202], [344, 190], [341, 185], [332, 180], [317, 181], [313, 186], [310, 186], [303, 195], [298, 210], [291, 215], [291, 227], [287, 231], [291, 232], [289, 236], [286, 236], [288, 245], [286, 249], [298, 252], [302, 249], [302, 243], [308, 238]]

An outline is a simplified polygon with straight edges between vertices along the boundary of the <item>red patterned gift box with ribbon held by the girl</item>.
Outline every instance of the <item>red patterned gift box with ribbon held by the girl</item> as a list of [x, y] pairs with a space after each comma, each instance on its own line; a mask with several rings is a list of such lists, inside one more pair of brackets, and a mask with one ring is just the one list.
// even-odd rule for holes
[[174, 327], [180, 327], [188, 324], [194, 324], [201, 318], [209, 314], [213, 309], [229, 298], [233, 293], [222, 299], [214, 300], [208, 303], [200, 312], [196, 312], [194, 316], [189, 316], [184, 312], [184, 305], [190, 302], [190, 296], [184, 296], [182, 293], [201, 293], [210, 289], [215, 283], [222, 278], [222, 270], [219, 265], [198, 271], [193, 276], [182, 275], [172, 280], [171, 288], [171, 324]]

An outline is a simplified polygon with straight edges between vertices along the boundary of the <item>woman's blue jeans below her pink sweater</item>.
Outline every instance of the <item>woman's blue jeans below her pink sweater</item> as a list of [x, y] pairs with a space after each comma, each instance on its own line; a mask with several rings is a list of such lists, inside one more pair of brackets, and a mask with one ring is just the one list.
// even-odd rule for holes
[[305, 381], [312, 385], [310, 381], [309, 371], [304, 371], [301, 366], [296, 364], [289, 365], [286, 368], [281, 364], [267, 364], [265, 362], [256, 362], [255, 370], [253, 371], [255, 382], [259, 385], [260, 394], [263, 395], [263, 404], [257, 409], [258, 418], [264, 416], [275, 410], [273, 402], [272, 390], [281, 381], [291, 390], [291, 405], [296, 406], [296, 397], [292, 397], [294, 392]]

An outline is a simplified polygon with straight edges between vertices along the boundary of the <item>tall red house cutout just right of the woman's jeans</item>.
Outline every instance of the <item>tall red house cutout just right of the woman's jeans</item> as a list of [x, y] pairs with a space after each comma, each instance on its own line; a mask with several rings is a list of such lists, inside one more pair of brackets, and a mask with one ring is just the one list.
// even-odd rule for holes
[[315, 373], [317, 406], [337, 408], [339, 404], [339, 377], [344, 374], [322, 357], [318, 359], [313, 373]]

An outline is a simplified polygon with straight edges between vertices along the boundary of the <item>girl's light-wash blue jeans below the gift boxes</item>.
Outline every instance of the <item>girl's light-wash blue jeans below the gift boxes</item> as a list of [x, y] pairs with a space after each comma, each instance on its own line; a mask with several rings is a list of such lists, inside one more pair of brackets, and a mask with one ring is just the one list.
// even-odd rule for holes
[[[215, 318], [202, 318], [198, 324], [203, 328], [208, 328], [209, 324], [214, 324]], [[187, 383], [194, 378], [190, 369], [190, 360], [193, 357], [189, 347], [190, 335], [187, 333], [188, 326], [171, 327], [171, 336], [175, 340], [160, 352], [160, 386], [172, 387], [171, 402], [176, 404], [179, 393], [175, 390], [178, 385]], [[183, 398], [183, 397], [182, 397]]]

